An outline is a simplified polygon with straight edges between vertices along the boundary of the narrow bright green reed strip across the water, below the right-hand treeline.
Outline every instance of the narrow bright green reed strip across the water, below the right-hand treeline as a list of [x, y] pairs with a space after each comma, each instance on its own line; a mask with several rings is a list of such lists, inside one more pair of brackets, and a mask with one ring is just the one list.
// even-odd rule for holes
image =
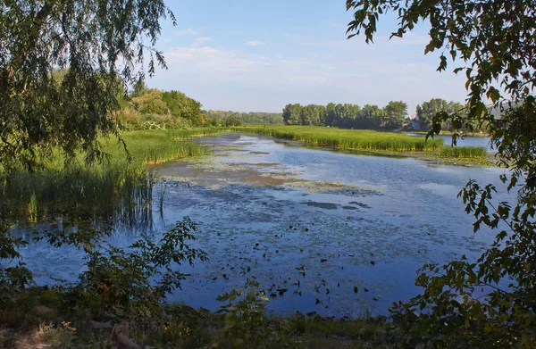
[[276, 138], [292, 139], [315, 145], [335, 146], [340, 149], [365, 151], [419, 152], [437, 150], [442, 139], [411, 137], [402, 134], [364, 129], [332, 129], [313, 126], [269, 126], [264, 128], [235, 128]]

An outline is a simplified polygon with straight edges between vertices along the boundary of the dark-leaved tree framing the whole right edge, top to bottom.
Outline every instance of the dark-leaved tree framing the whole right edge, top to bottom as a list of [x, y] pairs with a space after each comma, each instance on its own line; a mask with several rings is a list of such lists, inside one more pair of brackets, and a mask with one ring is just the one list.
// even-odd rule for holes
[[[463, 130], [487, 125], [497, 147], [498, 163], [509, 171], [500, 176], [517, 202], [496, 203], [496, 188], [470, 181], [460, 192], [466, 212], [475, 217], [474, 230], [486, 226], [497, 232], [494, 243], [477, 261], [443, 266], [426, 265], [416, 279], [422, 295], [398, 303], [393, 320], [405, 329], [401, 343], [419, 347], [536, 346], [536, 6], [532, 0], [390, 1], [348, 0], [354, 10], [348, 37], [364, 31], [373, 41], [382, 14], [398, 13], [404, 37], [420, 21], [430, 24], [424, 53], [441, 49], [438, 71], [465, 71], [466, 114], [439, 112], [429, 137], [446, 120]], [[493, 109], [486, 104], [490, 100]], [[499, 281], [503, 283], [499, 284]], [[483, 295], [474, 296], [475, 290]], [[426, 309], [426, 312], [422, 312]]]

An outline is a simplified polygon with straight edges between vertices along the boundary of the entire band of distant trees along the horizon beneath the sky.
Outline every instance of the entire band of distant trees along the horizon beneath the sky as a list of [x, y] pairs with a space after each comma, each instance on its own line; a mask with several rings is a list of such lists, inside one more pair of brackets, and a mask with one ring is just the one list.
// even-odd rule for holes
[[[287, 104], [282, 112], [205, 111], [202, 104], [180, 91], [162, 91], [138, 84], [128, 96], [118, 87], [120, 119], [128, 129], [188, 129], [197, 126], [282, 124], [336, 127], [340, 129], [430, 129], [438, 112], [464, 113], [465, 106], [433, 98], [417, 105], [408, 118], [407, 104], [391, 101], [384, 107], [365, 104]], [[450, 124], [443, 129], [452, 129]]]

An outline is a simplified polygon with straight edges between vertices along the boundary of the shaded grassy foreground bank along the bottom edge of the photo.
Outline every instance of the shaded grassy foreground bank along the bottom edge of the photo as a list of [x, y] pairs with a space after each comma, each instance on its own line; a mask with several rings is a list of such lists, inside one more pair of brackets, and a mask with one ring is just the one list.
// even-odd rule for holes
[[[103, 311], [59, 288], [30, 288], [0, 312], [2, 348], [375, 348], [389, 341], [385, 318], [362, 320], [322, 318], [314, 313], [273, 317], [262, 311], [257, 297], [239, 306], [243, 316], [222, 304], [222, 312], [194, 309], [180, 303], [161, 304], [145, 312]], [[245, 296], [243, 294], [239, 295]], [[261, 308], [256, 308], [260, 306]], [[226, 310], [227, 309], [227, 310]], [[125, 313], [126, 311], [126, 313]], [[127, 316], [125, 316], [127, 315]], [[390, 343], [389, 343], [390, 342]]]

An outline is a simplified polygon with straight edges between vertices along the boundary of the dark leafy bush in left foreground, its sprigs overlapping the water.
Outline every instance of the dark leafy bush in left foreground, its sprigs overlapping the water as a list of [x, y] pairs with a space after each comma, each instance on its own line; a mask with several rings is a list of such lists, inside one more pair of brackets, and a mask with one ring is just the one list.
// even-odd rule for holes
[[76, 292], [98, 295], [103, 309], [132, 304], [157, 307], [185, 278], [185, 274], [173, 270], [173, 263], [193, 265], [196, 259], [207, 260], [203, 251], [188, 245], [188, 240], [195, 239], [196, 230], [197, 226], [185, 218], [158, 243], [144, 237], [126, 249], [108, 245], [88, 250], [88, 270], [80, 274]]

